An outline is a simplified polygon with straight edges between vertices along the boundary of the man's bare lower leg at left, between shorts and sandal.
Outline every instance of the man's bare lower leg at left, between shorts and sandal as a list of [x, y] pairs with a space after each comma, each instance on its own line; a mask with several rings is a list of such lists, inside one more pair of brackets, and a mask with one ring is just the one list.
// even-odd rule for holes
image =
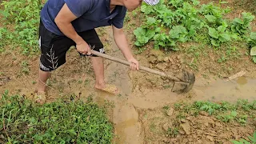
[[50, 71], [39, 70], [38, 93], [46, 93], [46, 82], [50, 78]]

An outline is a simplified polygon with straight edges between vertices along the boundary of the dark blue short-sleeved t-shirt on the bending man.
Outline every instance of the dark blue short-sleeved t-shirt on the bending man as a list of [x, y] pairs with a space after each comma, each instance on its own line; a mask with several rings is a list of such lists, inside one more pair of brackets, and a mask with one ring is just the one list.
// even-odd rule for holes
[[116, 6], [110, 13], [110, 0], [48, 0], [41, 11], [41, 19], [47, 30], [54, 34], [64, 35], [54, 22], [58, 12], [66, 3], [71, 12], [78, 18], [72, 22], [74, 30], [82, 32], [101, 26], [123, 26], [126, 16], [125, 6]]

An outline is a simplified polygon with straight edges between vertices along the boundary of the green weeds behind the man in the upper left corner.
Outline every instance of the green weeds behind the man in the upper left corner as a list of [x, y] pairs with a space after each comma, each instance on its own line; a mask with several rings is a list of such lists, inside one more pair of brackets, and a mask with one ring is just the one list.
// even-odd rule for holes
[[2, 1], [0, 10], [3, 27], [0, 28], [0, 52], [6, 45], [23, 54], [38, 52], [38, 26], [42, 0]]

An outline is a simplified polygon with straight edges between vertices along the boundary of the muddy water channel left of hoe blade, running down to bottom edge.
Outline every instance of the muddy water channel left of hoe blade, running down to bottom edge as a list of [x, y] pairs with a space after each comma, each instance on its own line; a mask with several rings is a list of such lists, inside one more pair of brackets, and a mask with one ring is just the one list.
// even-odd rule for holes
[[[110, 30], [108, 34], [112, 42], [110, 50], [108, 50], [112, 51], [111, 56], [125, 59], [114, 43], [112, 31]], [[109, 94], [98, 95], [99, 99], [108, 99], [114, 102], [113, 122], [117, 135], [114, 143], [141, 144], [144, 141], [144, 136], [136, 108], [154, 109], [158, 106], [164, 106], [167, 103], [175, 102], [178, 99], [178, 94], [171, 93], [167, 89], [151, 90], [150, 88], [140, 89], [138, 86], [133, 86], [129, 77], [130, 68], [128, 66], [108, 60], [106, 63], [106, 81], [114, 83], [121, 91], [121, 94], [115, 97]]]

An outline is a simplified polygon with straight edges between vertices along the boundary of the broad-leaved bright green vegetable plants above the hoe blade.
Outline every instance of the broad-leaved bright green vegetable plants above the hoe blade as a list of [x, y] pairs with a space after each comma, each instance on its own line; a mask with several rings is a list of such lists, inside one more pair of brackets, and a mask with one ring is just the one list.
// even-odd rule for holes
[[[161, 1], [157, 6], [143, 4], [142, 26], [134, 30], [136, 46], [154, 42], [154, 49], [179, 50], [179, 42], [200, 42], [219, 49], [226, 43], [246, 41], [254, 15], [242, 13], [242, 18], [228, 19], [230, 9], [213, 2], [198, 0]], [[230, 47], [230, 46], [228, 46]], [[199, 54], [199, 53], [198, 53]]]

